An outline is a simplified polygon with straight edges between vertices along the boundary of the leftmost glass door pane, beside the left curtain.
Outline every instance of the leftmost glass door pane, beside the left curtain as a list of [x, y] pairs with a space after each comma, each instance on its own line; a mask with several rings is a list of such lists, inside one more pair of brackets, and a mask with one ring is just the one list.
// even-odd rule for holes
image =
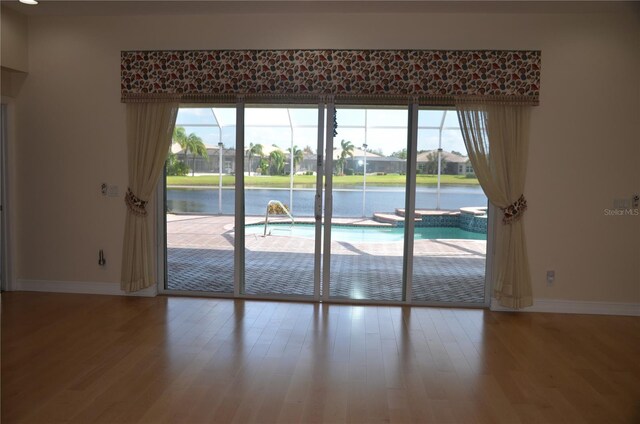
[[233, 293], [235, 108], [181, 107], [166, 163], [166, 289]]

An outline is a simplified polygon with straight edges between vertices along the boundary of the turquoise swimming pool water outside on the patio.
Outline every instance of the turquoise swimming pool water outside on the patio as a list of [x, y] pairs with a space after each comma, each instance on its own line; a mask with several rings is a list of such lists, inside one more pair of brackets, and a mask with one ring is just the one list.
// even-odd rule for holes
[[[313, 238], [315, 225], [313, 224], [269, 224], [268, 230], [272, 236]], [[264, 224], [251, 224], [245, 226], [245, 235], [264, 233]], [[472, 233], [457, 227], [415, 227], [415, 240], [432, 239], [465, 239], [486, 240], [485, 234]], [[363, 227], [333, 225], [331, 227], [331, 240], [347, 243], [389, 243], [404, 240], [404, 228], [402, 227]]]

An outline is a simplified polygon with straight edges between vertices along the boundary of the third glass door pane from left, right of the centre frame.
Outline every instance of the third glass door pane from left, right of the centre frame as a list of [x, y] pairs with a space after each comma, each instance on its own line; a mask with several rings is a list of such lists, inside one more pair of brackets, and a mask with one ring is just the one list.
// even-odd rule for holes
[[332, 299], [403, 300], [407, 119], [406, 107], [337, 109]]

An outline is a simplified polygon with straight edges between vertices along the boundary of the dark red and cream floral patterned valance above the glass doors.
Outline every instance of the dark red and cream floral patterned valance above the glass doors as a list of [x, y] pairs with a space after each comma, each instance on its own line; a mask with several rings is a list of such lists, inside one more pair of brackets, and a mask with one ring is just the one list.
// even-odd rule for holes
[[206, 50], [121, 53], [122, 101], [332, 96], [336, 102], [537, 104], [539, 51]]

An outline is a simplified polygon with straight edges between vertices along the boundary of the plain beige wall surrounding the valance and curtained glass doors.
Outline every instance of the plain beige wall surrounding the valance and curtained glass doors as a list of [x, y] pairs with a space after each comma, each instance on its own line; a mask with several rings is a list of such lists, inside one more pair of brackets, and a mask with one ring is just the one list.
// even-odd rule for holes
[[525, 191], [534, 296], [640, 302], [640, 217], [603, 214], [640, 191], [639, 40], [628, 13], [32, 17], [15, 146], [18, 278], [119, 281], [125, 206], [99, 186], [126, 189], [121, 50], [539, 49]]

